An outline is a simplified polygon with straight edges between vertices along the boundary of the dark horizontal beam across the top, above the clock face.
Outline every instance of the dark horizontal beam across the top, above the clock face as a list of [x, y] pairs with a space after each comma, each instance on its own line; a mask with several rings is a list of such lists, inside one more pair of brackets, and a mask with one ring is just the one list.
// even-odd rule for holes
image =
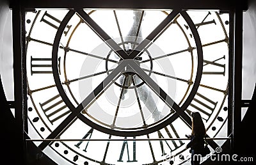
[[[231, 10], [236, 1], [232, 0], [26, 0], [22, 1], [24, 8], [124, 8], [124, 9], [208, 9], [208, 10]], [[237, 0], [239, 1], [239, 0]], [[240, 0], [243, 10], [247, 10], [247, 1]], [[13, 8], [15, 3], [10, 4]]]

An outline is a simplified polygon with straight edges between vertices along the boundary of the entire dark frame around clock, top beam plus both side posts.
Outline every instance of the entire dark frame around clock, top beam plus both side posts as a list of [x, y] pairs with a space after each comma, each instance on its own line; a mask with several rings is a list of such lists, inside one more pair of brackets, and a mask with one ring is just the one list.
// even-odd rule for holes
[[[11, 1], [13, 23], [13, 72], [15, 101], [15, 120], [19, 136], [17, 137], [17, 162], [24, 162], [25, 154], [25, 132], [28, 130], [27, 121], [27, 88], [26, 88], [26, 52], [25, 52], [25, 28], [24, 16], [28, 10], [35, 8], [137, 8], [137, 9], [214, 9], [230, 13], [230, 68], [228, 85], [228, 133], [232, 138], [232, 147], [236, 151], [236, 137], [241, 123], [241, 71], [243, 55], [243, 11], [247, 10], [246, 1], [223, 1], [223, 0], [195, 0], [195, 1], [165, 1], [165, 0], [128, 0], [128, 1]], [[237, 139], [239, 140], [239, 139]]]

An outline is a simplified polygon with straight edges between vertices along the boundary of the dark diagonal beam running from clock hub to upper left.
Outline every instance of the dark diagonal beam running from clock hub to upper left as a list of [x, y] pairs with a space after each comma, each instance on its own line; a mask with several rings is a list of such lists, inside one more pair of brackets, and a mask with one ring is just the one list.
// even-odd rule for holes
[[127, 59], [127, 53], [86, 13], [83, 9], [75, 9], [81, 19], [114, 51], [122, 58]]

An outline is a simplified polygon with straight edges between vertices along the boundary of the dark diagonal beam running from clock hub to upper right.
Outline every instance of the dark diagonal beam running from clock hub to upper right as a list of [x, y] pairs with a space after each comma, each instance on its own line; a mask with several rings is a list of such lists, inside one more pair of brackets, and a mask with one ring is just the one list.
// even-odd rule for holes
[[134, 59], [136, 56], [140, 56], [141, 51], [147, 47], [152, 40], [154, 40], [156, 37], [159, 37], [159, 35], [162, 34], [162, 32], [168, 27], [169, 24], [171, 24], [172, 20], [181, 12], [182, 10], [173, 10], [155, 29], [152, 31], [147, 38], [145, 38], [138, 47], [134, 51], [132, 51], [129, 54], [129, 59]]

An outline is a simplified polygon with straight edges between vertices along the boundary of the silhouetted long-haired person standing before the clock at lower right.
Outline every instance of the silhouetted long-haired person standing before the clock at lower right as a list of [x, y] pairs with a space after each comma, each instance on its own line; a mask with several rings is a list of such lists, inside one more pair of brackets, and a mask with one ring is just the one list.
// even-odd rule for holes
[[191, 165], [200, 164], [200, 151], [204, 150], [205, 126], [200, 113], [192, 112], [192, 133], [186, 148], [191, 148]]

